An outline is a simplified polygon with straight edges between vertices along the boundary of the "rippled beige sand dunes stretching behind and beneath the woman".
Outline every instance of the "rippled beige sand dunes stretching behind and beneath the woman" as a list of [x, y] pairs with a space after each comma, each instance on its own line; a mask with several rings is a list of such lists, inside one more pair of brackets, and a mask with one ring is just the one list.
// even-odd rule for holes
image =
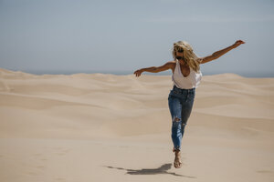
[[0, 69], [0, 181], [274, 181], [274, 78], [204, 76], [172, 166], [171, 76]]

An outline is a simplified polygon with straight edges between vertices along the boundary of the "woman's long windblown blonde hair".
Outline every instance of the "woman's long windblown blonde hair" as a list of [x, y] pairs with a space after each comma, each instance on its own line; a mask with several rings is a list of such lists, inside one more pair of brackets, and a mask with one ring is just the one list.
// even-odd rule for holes
[[192, 46], [189, 45], [185, 41], [178, 41], [174, 43], [174, 50], [173, 50], [173, 56], [174, 60], [176, 59], [176, 52], [179, 49], [184, 50], [184, 60], [186, 61], [186, 64], [190, 66], [195, 72], [198, 72], [200, 70], [200, 62], [198, 60], [198, 57], [195, 55], [195, 52], [192, 49]]

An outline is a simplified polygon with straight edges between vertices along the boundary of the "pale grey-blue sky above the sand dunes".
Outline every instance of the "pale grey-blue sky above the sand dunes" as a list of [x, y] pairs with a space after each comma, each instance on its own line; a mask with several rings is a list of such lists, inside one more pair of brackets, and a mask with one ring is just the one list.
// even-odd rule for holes
[[273, 10], [273, 0], [0, 0], [0, 67], [131, 73], [173, 60], [179, 40], [208, 56], [242, 39], [202, 73], [274, 76]]

